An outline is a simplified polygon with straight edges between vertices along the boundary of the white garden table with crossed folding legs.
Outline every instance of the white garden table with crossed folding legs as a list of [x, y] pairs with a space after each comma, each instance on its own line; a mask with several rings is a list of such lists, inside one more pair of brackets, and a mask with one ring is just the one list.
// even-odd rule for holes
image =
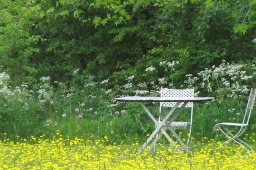
[[[182, 105], [182, 107], [180, 108], [184, 108], [184, 106], [186, 106], [187, 103], [189, 102], [204, 102], [207, 100], [213, 100], [214, 97], [141, 97], [141, 96], [126, 96], [126, 97], [118, 97], [115, 98], [116, 101], [118, 102], [140, 102], [141, 106], [144, 108], [145, 112], [149, 115], [149, 117], [151, 118], [151, 120], [155, 123], [155, 131], [151, 133], [151, 135], [148, 137], [147, 141], [143, 144], [143, 146], [141, 146], [140, 150], [138, 151], [138, 153], [141, 153], [145, 147], [148, 145], [148, 143], [151, 142], [151, 140], [154, 138], [154, 136], [156, 136], [159, 132], [164, 135], [166, 137], [166, 139], [168, 139], [168, 141], [170, 142], [170, 144], [173, 145], [173, 147], [176, 147], [176, 144], [173, 142], [173, 140], [170, 138], [170, 136], [168, 135], [168, 133], [166, 133], [166, 125], [170, 125], [173, 121], [175, 121], [175, 119], [177, 118], [177, 116], [180, 114], [180, 110], [176, 110], [177, 106]], [[154, 115], [152, 115], [152, 113], [150, 112], [150, 110], [145, 106], [144, 103], [153, 103], [153, 102], [177, 102], [175, 104], [175, 106], [173, 106], [169, 113], [165, 115], [165, 117], [163, 118], [163, 120], [161, 122], [157, 121], [156, 118], [154, 117]], [[159, 115], [159, 111], [155, 110], [156, 113]], [[175, 112], [175, 114], [173, 114]], [[172, 117], [171, 117], [172, 115]], [[173, 132], [172, 132], [173, 133]], [[175, 133], [175, 132], [174, 132]], [[175, 138], [179, 141], [179, 143], [184, 147], [184, 150], [188, 153], [189, 149], [187, 148], [187, 146], [182, 142], [182, 139], [180, 139], [180, 137], [177, 134], [174, 134]], [[157, 135], [156, 138], [154, 139], [154, 141], [151, 143], [151, 148], [154, 146], [154, 144], [157, 142], [157, 140], [159, 139], [159, 136]]]

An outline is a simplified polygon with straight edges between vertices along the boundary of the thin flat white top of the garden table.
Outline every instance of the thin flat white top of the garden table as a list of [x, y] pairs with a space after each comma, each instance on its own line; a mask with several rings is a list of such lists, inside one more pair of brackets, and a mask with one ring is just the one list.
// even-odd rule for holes
[[213, 100], [214, 97], [142, 97], [126, 96], [115, 98], [118, 102], [202, 102]]

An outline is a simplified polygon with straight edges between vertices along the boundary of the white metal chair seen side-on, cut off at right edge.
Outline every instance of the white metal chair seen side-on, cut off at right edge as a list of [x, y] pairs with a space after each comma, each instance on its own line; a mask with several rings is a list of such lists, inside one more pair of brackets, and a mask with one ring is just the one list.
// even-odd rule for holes
[[[227, 138], [226, 142], [224, 144], [231, 142], [232, 140], [236, 142], [237, 144], [240, 144], [241, 146], [244, 147], [244, 149], [251, 150], [253, 151], [253, 148], [251, 148], [246, 142], [243, 140], [239, 139], [239, 137], [246, 131], [247, 126], [249, 125], [249, 120], [251, 117], [251, 111], [253, 110], [254, 103], [255, 103], [255, 97], [256, 97], [256, 89], [251, 89], [250, 96], [248, 99], [246, 111], [244, 113], [243, 117], [243, 122], [241, 123], [233, 123], [233, 122], [222, 122], [219, 124], [216, 124], [214, 126], [214, 130], [219, 130], [221, 131]], [[237, 133], [230, 133], [229, 130], [226, 128], [227, 126], [229, 127], [236, 127]]]

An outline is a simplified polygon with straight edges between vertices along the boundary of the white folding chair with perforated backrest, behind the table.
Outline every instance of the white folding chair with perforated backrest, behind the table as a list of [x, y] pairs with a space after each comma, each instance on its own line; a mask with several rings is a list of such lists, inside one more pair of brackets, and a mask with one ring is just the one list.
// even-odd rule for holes
[[[161, 89], [161, 97], [194, 97], [194, 89]], [[159, 122], [162, 120], [162, 107], [173, 107], [175, 106], [176, 102], [161, 102], [159, 106]], [[177, 107], [182, 107], [183, 103], [180, 103], [179, 106]], [[193, 121], [193, 102], [189, 102], [186, 104], [185, 107], [191, 108], [190, 112], [190, 122], [185, 122], [185, 121], [173, 121], [169, 125], [166, 125], [167, 128], [170, 130], [170, 132], [175, 135], [176, 139], [179, 140], [180, 143], [183, 143], [182, 140], [179, 138], [177, 133], [175, 132], [175, 129], [187, 129], [189, 126], [189, 135], [187, 138], [186, 142], [186, 151], [189, 151], [188, 146], [189, 146], [189, 140], [190, 140], [190, 135], [191, 135], [191, 130], [192, 130], [192, 121]]]

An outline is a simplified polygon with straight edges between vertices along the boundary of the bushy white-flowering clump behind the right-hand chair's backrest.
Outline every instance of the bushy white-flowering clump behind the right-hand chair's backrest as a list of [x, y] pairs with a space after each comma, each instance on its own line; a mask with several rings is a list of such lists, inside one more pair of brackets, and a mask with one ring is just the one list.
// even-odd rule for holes
[[193, 77], [187, 74], [187, 79], [184, 81], [189, 88], [194, 87], [197, 93], [210, 93], [218, 98], [238, 99], [246, 95], [255, 85], [253, 79], [256, 78], [256, 67], [254, 64], [230, 64], [223, 60], [218, 67], [205, 68], [197, 75], [198, 77]]

